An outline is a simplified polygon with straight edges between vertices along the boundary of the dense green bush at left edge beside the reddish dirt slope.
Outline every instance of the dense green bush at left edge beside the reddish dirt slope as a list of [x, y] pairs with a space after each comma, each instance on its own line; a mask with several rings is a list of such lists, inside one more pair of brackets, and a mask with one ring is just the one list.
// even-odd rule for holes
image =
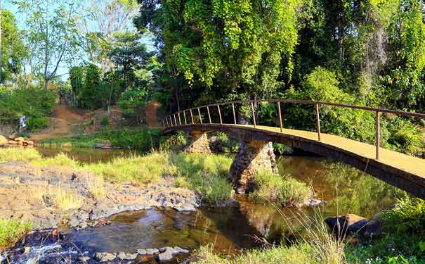
[[25, 115], [30, 131], [44, 128], [55, 100], [53, 92], [38, 88], [0, 90], [0, 122], [13, 123], [18, 127], [20, 116]]

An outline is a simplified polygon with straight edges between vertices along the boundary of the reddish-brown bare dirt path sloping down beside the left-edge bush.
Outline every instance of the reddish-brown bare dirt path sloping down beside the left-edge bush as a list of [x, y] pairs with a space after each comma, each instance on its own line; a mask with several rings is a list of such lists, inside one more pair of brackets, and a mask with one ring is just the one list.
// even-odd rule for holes
[[32, 134], [32, 141], [39, 141], [49, 137], [64, 137], [72, 134], [79, 126], [86, 122], [86, 115], [72, 111], [67, 106], [58, 105], [53, 109], [50, 118], [51, 126], [36, 134]]

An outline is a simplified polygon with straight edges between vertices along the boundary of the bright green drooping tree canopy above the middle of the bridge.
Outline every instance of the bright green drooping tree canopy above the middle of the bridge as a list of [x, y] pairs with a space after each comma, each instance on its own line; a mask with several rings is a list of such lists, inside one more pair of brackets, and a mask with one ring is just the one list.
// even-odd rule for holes
[[188, 87], [216, 100], [246, 99], [273, 96], [291, 80], [300, 1], [139, 3], [136, 26], [155, 35], [169, 74]]

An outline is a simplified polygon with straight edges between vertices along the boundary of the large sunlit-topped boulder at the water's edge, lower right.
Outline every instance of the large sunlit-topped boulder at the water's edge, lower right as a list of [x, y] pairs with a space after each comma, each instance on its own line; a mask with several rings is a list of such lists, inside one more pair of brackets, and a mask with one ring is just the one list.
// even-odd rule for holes
[[327, 225], [333, 232], [344, 237], [346, 233], [362, 233], [365, 231], [366, 225], [370, 222], [366, 218], [352, 213], [346, 215], [339, 215], [325, 220]]

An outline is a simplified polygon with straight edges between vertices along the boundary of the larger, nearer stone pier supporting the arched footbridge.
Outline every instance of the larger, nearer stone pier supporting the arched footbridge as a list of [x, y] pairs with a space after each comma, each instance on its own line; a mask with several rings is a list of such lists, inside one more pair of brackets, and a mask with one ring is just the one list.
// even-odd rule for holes
[[261, 141], [242, 142], [229, 173], [236, 193], [247, 194], [254, 191], [255, 175], [259, 171], [277, 172], [273, 144]]

